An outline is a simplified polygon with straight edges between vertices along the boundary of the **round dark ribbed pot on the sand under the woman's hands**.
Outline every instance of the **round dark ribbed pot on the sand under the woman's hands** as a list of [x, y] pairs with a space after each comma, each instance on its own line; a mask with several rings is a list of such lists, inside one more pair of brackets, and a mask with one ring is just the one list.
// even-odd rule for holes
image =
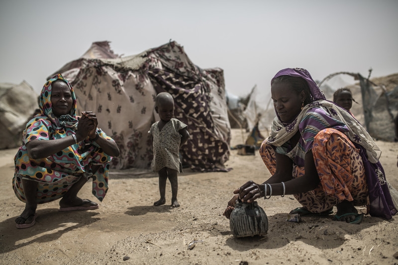
[[237, 202], [229, 217], [229, 228], [235, 237], [265, 235], [268, 231], [268, 218], [257, 201]]

